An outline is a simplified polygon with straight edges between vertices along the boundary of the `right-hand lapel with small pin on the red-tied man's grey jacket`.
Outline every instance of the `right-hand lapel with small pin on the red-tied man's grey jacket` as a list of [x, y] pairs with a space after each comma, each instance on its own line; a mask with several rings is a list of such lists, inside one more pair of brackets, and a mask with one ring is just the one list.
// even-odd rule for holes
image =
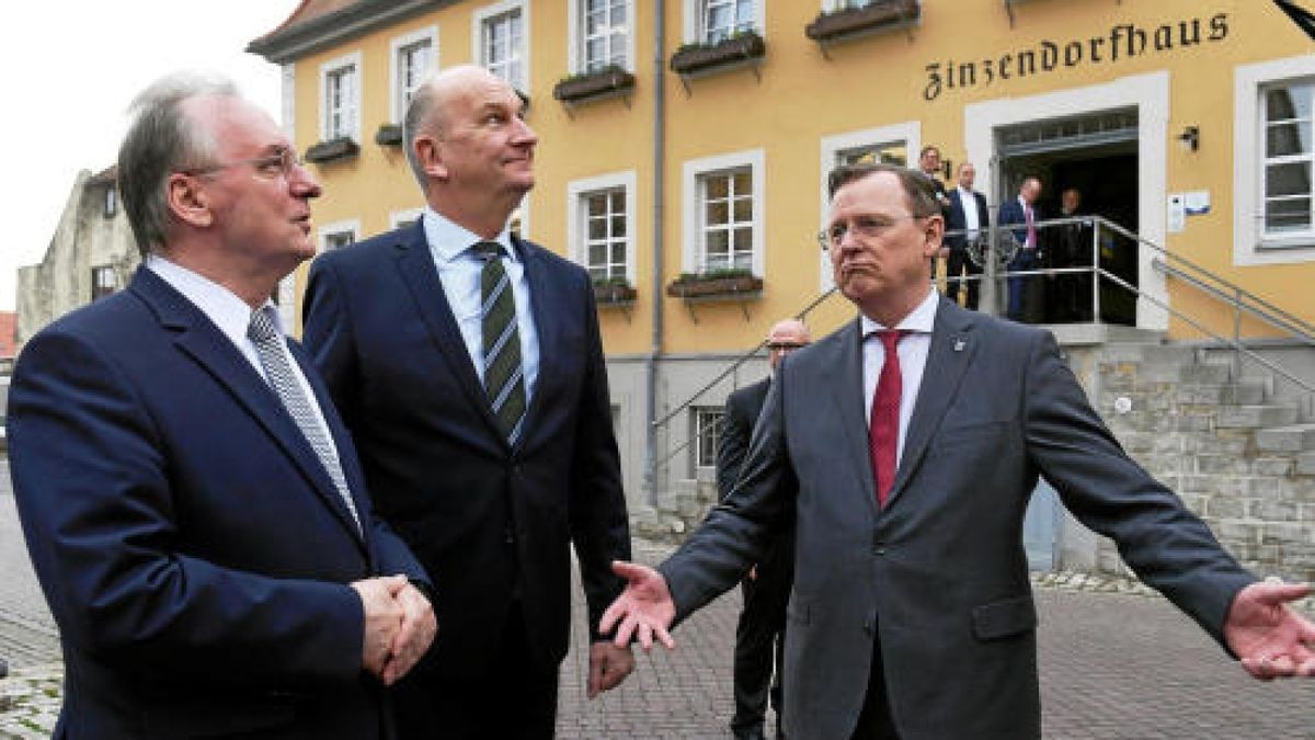
[[913, 471], [917, 470], [927, 442], [940, 427], [949, 404], [959, 395], [964, 371], [977, 352], [973, 341], [973, 315], [953, 302], [942, 298], [936, 309], [936, 321], [931, 330], [931, 348], [927, 350], [927, 366], [922, 373], [922, 386], [918, 400], [914, 402], [913, 419], [905, 436], [903, 454], [899, 457], [899, 470], [886, 507], [899, 496]]

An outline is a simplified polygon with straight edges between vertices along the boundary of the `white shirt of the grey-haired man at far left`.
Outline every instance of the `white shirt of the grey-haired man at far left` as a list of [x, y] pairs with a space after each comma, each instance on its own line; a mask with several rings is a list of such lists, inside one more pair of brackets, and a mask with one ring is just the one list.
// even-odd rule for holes
[[[238, 348], [242, 357], [246, 357], [251, 367], [255, 369], [256, 374], [268, 383], [270, 378], [264, 374], [264, 366], [260, 365], [260, 354], [255, 349], [255, 342], [252, 342], [247, 336], [247, 327], [251, 325], [251, 307], [246, 304], [245, 300], [237, 296], [229, 288], [193, 273], [176, 262], [170, 262], [159, 254], [151, 254], [146, 258], [146, 267], [150, 271], [160, 277], [162, 280], [174, 287], [178, 292], [183, 294], [183, 298], [192, 302], [193, 305], [205, 313], [205, 317], [210, 320], [220, 332], [224, 333], [233, 346]], [[264, 305], [260, 307], [262, 311], [274, 321], [274, 328], [280, 334], [283, 330], [283, 319], [279, 316], [277, 311], [268, 311], [274, 307], [274, 302], [266, 300]], [[284, 357], [288, 359], [288, 366], [292, 367], [292, 374], [297, 378], [297, 384], [301, 387], [302, 395], [310, 403], [310, 410], [314, 411], [316, 424], [320, 425], [320, 431], [323, 432], [326, 440], [333, 440], [333, 435], [329, 432], [329, 424], [325, 421], [323, 412], [320, 410], [320, 402], [316, 399], [316, 392], [310, 387], [310, 381], [301, 371], [301, 365], [297, 363], [297, 358], [292, 357], [292, 350], [288, 349], [288, 342], [281, 342], [279, 345], [283, 350]], [[271, 386], [272, 387], [272, 386]], [[337, 446], [337, 445], [334, 445]], [[331, 450], [334, 457], [337, 457], [338, 450]]]

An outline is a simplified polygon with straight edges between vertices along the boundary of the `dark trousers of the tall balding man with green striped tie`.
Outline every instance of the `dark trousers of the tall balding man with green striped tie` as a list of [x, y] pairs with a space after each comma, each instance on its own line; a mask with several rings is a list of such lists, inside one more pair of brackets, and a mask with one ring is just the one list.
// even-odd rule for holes
[[393, 697], [398, 740], [551, 740], [558, 666], [544, 670], [530, 660], [522, 608], [513, 603], [497, 658], [484, 673], [437, 675], [421, 668]]

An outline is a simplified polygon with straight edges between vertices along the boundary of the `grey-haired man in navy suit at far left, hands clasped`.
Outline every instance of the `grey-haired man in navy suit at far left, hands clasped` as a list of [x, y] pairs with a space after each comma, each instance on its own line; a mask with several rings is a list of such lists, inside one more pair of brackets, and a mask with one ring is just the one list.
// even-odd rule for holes
[[145, 266], [33, 337], [9, 396], [55, 736], [392, 737], [427, 578], [270, 302], [320, 186], [230, 83], [184, 75], [137, 99], [118, 184]]

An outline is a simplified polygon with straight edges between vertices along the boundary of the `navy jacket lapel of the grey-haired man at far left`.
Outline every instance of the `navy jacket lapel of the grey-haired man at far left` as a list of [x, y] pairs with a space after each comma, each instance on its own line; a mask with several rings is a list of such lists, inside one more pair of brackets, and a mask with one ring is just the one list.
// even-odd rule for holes
[[[292, 416], [283, 408], [283, 402], [251, 367], [238, 348], [233, 346], [233, 342], [220, 332], [205, 313], [149, 269], [142, 267], [137, 271], [132, 290], [154, 308], [160, 325], [176, 333], [174, 344], [205, 367], [217, 383], [227, 388], [238, 406], [260, 423], [359, 542], [360, 533], [356, 529], [356, 523], [352, 520], [351, 512], [347, 511], [342, 496], [338, 495], [338, 489], [329, 478], [329, 473], [325, 471], [320, 457], [316, 456], [310, 442], [306, 441]], [[306, 373], [304, 363], [302, 373]], [[322, 396], [320, 406], [321, 408], [325, 406]]]

